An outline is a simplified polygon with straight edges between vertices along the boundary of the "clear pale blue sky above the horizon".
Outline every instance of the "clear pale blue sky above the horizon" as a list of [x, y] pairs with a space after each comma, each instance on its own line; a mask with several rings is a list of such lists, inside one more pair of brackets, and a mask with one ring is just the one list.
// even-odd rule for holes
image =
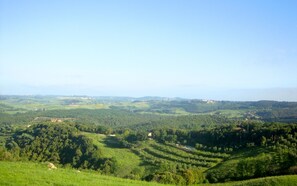
[[0, 0], [0, 95], [297, 101], [295, 0]]

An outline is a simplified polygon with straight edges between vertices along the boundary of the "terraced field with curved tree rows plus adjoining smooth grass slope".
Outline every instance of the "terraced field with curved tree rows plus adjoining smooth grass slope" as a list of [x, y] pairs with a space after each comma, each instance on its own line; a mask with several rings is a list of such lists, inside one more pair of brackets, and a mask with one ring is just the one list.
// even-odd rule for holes
[[105, 157], [118, 157], [121, 177], [126, 176], [124, 172], [131, 172], [141, 165], [141, 162], [149, 165], [166, 163], [183, 168], [197, 167], [206, 170], [229, 157], [226, 153], [196, 150], [171, 143], [161, 144], [154, 140], [143, 142], [140, 147], [130, 150], [119, 147], [114, 137], [94, 133], [83, 134], [93, 139]]

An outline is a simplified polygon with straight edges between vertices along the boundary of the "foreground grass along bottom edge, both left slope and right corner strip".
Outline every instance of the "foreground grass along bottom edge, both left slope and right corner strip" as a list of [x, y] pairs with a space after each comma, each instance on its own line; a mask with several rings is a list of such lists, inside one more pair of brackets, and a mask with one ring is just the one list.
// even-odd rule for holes
[[[134, 181], [96, 172], [77, 171], [75, 169], [58, 168], [49, 170], [46, 163], [3, 162], [0, 161], [0, 185], [104, 185], [104, 186], [161, 186], [154, 182]], [[204, 184], [202, 184], [204, 185]], [[212, 184], [205, 184], [212, 185]], [[217, 186], [294, 186], [297, 175], [275, 176], [246, 181], [213, 184]]]

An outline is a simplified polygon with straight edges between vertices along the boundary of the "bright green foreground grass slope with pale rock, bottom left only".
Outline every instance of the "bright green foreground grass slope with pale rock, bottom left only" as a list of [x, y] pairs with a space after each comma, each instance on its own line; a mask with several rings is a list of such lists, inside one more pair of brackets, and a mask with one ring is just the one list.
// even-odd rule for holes
[[47, 164], [0, 161], [0, 185], [160, 185], [143, 181], [99, 175], [96, 172], [78, 172], [74, 169], [49, 170]]

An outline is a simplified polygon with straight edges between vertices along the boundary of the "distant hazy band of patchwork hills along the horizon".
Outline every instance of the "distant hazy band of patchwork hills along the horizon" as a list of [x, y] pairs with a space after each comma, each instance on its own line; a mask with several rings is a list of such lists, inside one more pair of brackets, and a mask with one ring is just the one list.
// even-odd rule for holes
[[111, 109], [157, 115], [216, 115], [236, 119], [296, 122], [297, 103], [215, 101], [181, 98], [0, 95], [0, 113], [47, 110]]

